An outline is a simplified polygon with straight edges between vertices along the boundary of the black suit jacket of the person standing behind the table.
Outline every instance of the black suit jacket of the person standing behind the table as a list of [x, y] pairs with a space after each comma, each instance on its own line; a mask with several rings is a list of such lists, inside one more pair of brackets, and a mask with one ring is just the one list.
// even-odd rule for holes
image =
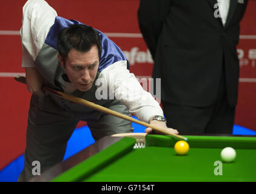
[[217, 0], [141, 0], [138, 21], [161, 78], [161, 100], [209, 107], [216, 101], [223, 64], [227, 100], [237, 104], [239, 61], [236, 46], [248, 0], [231, 0], [226, 24]]

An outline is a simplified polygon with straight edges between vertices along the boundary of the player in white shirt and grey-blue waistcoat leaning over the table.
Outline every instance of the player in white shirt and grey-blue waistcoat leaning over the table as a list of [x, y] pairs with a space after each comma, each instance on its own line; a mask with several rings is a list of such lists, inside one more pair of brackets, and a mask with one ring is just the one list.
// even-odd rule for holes
[[[39, 161], [41, 172], [61, 162], [67, 141], [78, 121], [86, 121], [93, 138], [132, 132], [132, 123], [83, 105], [44, 93], [44, 84], [70, 93], [124, 115], [166, 127], [163, 111], [150, 93], [129, 72], [129, 63], [120, 48], [95, 28], [59, 17], [43, 0], [29, 0], [23, 7], [22, 67], [27, 89], [32, 93], [27, 123], [24, 169], [18, 181], [32, 178], [32, 162]], [[97, 80], [121, 98], [97, 99]], [[129, 83], [128, 86], [125, 83]], [[133, 93], [133, 98], [123, 93]], [[135, 94], [135, 95], [134, 95]], [[112, 95], [109, 93], [109, 96]], [[139, 97], [139, 98], [134, 98]], [[146, 133], [152, 129], [146, 129]]]

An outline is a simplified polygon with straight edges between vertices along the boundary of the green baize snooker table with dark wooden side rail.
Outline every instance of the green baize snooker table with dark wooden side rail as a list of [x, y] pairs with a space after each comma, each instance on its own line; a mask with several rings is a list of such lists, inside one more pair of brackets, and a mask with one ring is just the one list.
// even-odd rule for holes
[[[180, 156], [170, 136], [146, 135], [140, 149], [133, 149], [134, 138], [106, 136], [32, 181], [256, 181], [255, 136], [186, 137], [190, 149]], [[221, 161], [224, 147], [235, 149], [234, 162]]]

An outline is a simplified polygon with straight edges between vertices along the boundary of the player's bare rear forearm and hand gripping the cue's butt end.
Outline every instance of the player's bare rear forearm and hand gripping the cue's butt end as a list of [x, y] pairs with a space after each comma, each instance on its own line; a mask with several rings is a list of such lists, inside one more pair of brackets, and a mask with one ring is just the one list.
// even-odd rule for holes
[[43, 84], [42, 76], [38, 73], [38, 70], [32, 67], [25, 68], [27, 90], [38, 96], [44, 96], [41, 87]]

